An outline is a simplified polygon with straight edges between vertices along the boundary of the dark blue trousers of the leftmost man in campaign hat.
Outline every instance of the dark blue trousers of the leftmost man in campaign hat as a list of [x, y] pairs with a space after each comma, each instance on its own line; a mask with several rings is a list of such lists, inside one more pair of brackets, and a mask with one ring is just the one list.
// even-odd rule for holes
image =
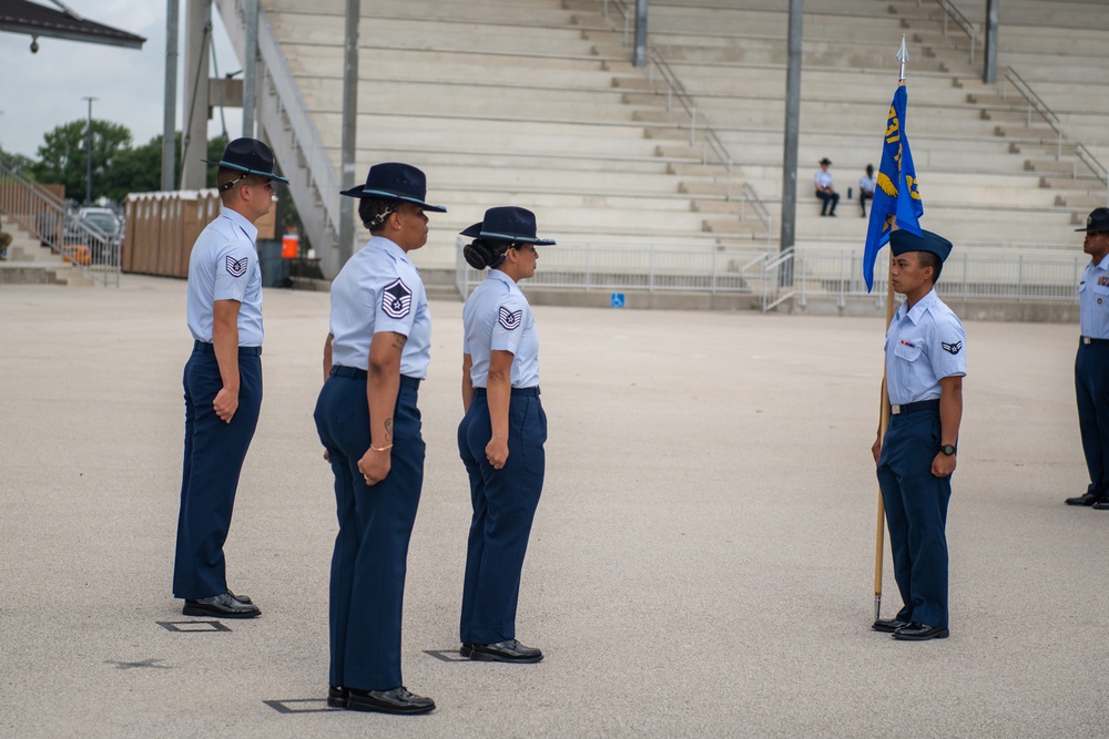
[[262, 408], [262, 348], [238, 348], [238, 409], [224, 423], [212, 402], [223, 388], [212, 345], [197, 341], [185, 363], [185, 456], [173, 565], [173, 595], [210, 598], [227, 592], [223, 544], [238, 475]]

